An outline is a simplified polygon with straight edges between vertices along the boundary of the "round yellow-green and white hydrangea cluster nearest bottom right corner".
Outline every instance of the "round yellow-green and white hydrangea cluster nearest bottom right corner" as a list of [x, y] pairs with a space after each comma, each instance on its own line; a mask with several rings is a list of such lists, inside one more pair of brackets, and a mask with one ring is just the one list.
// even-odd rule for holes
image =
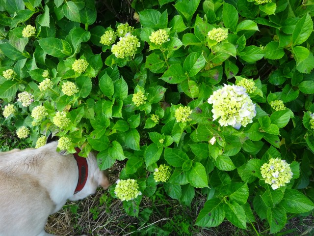
[[286, 160], [279, 158], [271, 158], [268, 163], [263, 164], [261, 174], [265, 183], [270, 184], [274, 190], [281, 186], [286, 186], [286, 183], [290, 182], [293, 175]]

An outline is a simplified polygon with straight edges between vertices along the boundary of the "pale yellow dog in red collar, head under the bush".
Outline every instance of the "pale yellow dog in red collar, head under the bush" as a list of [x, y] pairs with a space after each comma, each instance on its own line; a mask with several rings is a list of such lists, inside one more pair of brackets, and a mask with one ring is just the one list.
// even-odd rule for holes
[[38, 149], [0, 152], [0, 236], [52, 236], [48, 216], [110, 182], [95, 155], [61, 155], [56, 142]]

